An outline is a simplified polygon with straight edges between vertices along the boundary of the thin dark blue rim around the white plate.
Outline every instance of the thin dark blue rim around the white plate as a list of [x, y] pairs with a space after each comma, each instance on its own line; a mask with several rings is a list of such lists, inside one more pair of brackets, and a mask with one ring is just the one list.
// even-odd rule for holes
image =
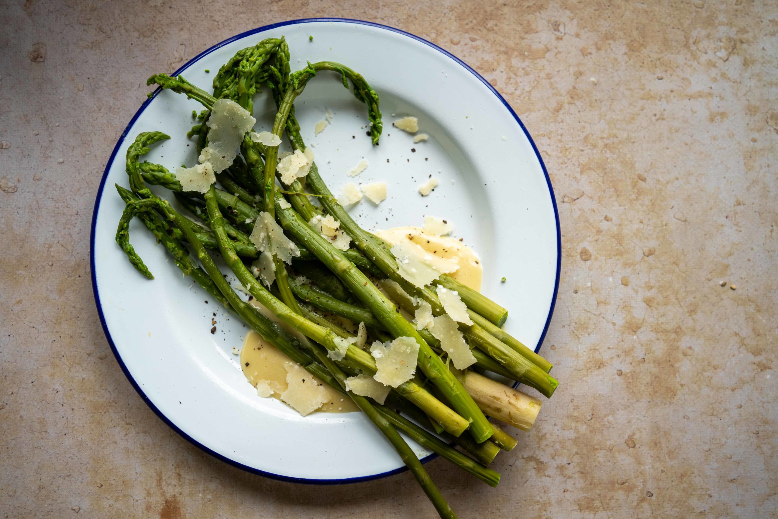
[[[230, 44], [235, 40], [240, 40], [241, 38], [251, 36], [252, 34], [257, 33], [263, 33], [267, 30], [276, 29], [278, 27], [284, 27], [284, 26], [290, 26], [290, 25], [297, 25], [300, 23], [318, 23], [318, 22], [334, 22], [334, 23], [358, 23], [359, 25], [365, 25], [365, 26], [371, 26], [371, 27], [377, 27], [379, 29], [384, 30], [390, 30], [393, 33], [402, 34], [404, 36], [410, 37], [414, 40], [417, 40], [421, 42], [422, 44], [426, 44], [429, 47], [432, 47], [436, 51], [442, 52], [447, 57], [453, 59], [457, 62], [457, 64], [464, 67], [465, 70], [470, 72], [472, 75], [475, 75], [476, 78], [478, 78], [495, 96], [497, 96], [497, 99], [500, 101], [500, 103], [503, 103], [503, 106], [506, 107], [506, 109], [510, 112], [510, 114], [513, 116], [513, 118], [516, 120], [516, 122], [519, 124], [521, 130], [524, 132], [524, 135], [527, 136], [527, 139], [529, 139], [530, 144], [532, 145], [532, 149], [535, 153], [535, 156], [538, 157], [538, 161], [540, 162], [541, 168], [543, 169], [543, 174], [545, 175], [545, 181], [548, 184], [548, 194], [551, 196], [551, 203], [554, 208], [554, 218], [556, 220], [556, 279], [554, 282], [554, 293], [552, 295], [551, 300], [551, 307], [548, 309], [548, 317], [545, 321], [545, 326], [543, 327], [543, 332], [541, 333], [540, 338], [538, 339], [538, 344], [535, 346], [534, 351], [538, 352], [538, 350], [541, 348], [541, 345], [543, 344], [543, 339], [545, 339], [546, 333], [548, 333], [548, 326], [551, 324], [551, 318], [554, 314], [554, 307], [556, 305], [556, 296], [557, 293], [559, 293], [559, 277], [561, 274], [561, 268], [562, 268], [562, 233], [560, 231], [559, 227], [559, 210], [556, 206], [556, 197], [554, 195], [554, 188], [551, 184], [551, 178], [548, 177], [548, 170], [545, 168], [545, 163], [543, 162], [543, 158], [540, 155], [540, 152], [538, 151], [538, 146], [535, 145], [534, 140], [532, 139], [532, 136], [530, 135], [530, 132], [527, 131], [527, 127], [524, 126], [524, 123], [521, 122], [521, 119], [516, 114], [515, 111], [513, 111], [513, 107], [510, 106], [510, 104], [503, 98], [503, 96], [500, 95], [499, 92], [488, 82], [486, 79], [483, 78], [482, 75], [478, 74], [478, 72], [475, 72], [473, 68], [471, 68], [470, 65], [462, 61], [460, 58], [457, 58], [457, 56], [454, 56], [454, 54], [451, 54], [449, 51], [438, 47], [436, 44], [433, 44], [429, 40], [425, 40], [422, 37], [416, 36], [415, 34], [408, 33], [405, 30], [397, 29], [396, 27], [387, 26], [381, 23], [375, 23], [375, 22], [368, 22], [366, 20], [360, 20], [360, 19], [350, 19], [350, 18], [301, 18], [301, 19], [293, 19], [293, 20], [287, 20], [286, 22], [279, 22], [279, 23], [271, 23], [266, 26], [261, 26], [256, 29], [251, 29], [244, 31], [243, 33], [237, 34], [233, 37], [227, 38], [226, 40], [223, 40], [219, 42], [216, 45], [213, 45], [212, 47], [209, 47], [205, 49], [205, 51], [202, 51], [200, 54], [196, 55], [194, 58], [191, 58], [189, 61], [184, 63], [184, 65], [181, 65], [176, 72], [173, 72], [173, 75], [178, 75], [181, 72], [184, 72], [187, 68], [189, 68], [191, 65], [194, 65], [197, 61], [200, 60], [203, 56], [212, 53], [213, 51], [216, 51], [219, 47], [223, 47], [226, 44]], [[108, 177], [108, 172], [110, 170], [110, 167], [113, 166], [114, 160], [116, 159], [116, 154], [119, 151], [119, 148], [121, 147], [122, 143], [124, 142], [124, 139], [126, 139], [128, 132], [132, 128], [133, 124], [135, 124], [135, 121], [140, 117], [140, 115], [143, 113], [143, 111], [146, 109], [146, 107], [149, 106], [149, 103], [154, 99], [154, 97], [157, 96], [157, 94], [161, 91], [161, 89], [156, 89], [152, 96], [149, 97], [149, 99], [145, 100], [141, 107], [138, 108], [138, 111], [135, 112], [135, 115], [132, 116], [130, 119], [130, 122], [127, 124], [127, 126], [124, 128], [124, 131], [121, 132], [121, 135], [119, 136], [119, 139], [116, 142], [116, 146], [114, 146], [113, 151], [110, 153], [110, 158], [108, 159], [108, 162], [106, 164], [105, 170], [103, 170], [103, 177], [100, 179], [100, 186], [97, 188], [97, 195], [95, 198], [95, 204], [92, 210], [92, 227], [89, 233], [89, 267], [91, 272], [89, 273], [89, 277], [92, 279], [92, 291], [95, 298], [95, 303], [97, 307], [97, 314], [100, 317], [100, 324], [103, 327], [103, 333], [105, 334], [108, 345], [110, 345], [111, 352], [114, 353], [114, 357], [116, 358], [117, 363], [119, 363], [119, 366], [121, 367], [122, 372], [124, 373], [124, 376], [127, 377], [127, 380], [129, 380], [130, 384], [133, 388], [135, 388], [135, 391], [138, 393], [138, 395], [142, 398], [143, 402], [145, 402], [146, 405], [149, 406], [149, 408], [156, 414], [156, 416], [159, 417], [164, 423], [166, 423], [167, 426], [170, 427], [170, 429], [174, 430], [176, 433], [178, 433], [181, 437], [184, 438], [184, 440], [187, 440], [190, 444], [194, 445], [195, 447], [198, 447], [200, 450], [204, 451], [207, 454], [210, 454], [214, 458], [217, 458], [221, 461], [224, 461], [225, 463], [228, 463], [230, 465], [233, 465], [233, 467], [240, 468], [241, 470], [244, 470], [246, 472], [251, 472], [253, 474], [263, 475], [267, 478], [271, 479], [278, 479], [279, 481], [285, 481], [285, 482], [294, 482], [294, 483], [304, 483], [307, 485], [342, 485], [346, 483], [357, 483], [357, 482], [363, 482], [363, 481], [371, 481], [373, 479], [381, 479], [385, 478], [390, 475], [399, 474], [401, 472], [405, 472], [408, 470], [408, 467], [402, 466], [400, 468], [395, 468], [394, 470], [387, 471], [387, 472], [381, 472], [380, 474], [373, 474], [373, 475], [366, 475], [366, 476], [359, 476], [357, 478], [341, 478], [341, 479], [307, 479], [307, 478], [294, 478], [288, 475], [281, 475], [281, 474], [275, 474], [273, 472], [265, 472], [263, 470], [260, 470], [258, 468], [250, 467], [248, 465], [244, 465], [240, 463], [239, 461], [235, 461], [231, 458], [227, 458], [223, 454], [219, 454], [216, 451], [213, 451], [209, 447], [205, 447], [205, 445], [201, 444], [194, 438], [190, 437], [187, 433], [184, 433], [183, 430], [180, 430], [176, 424], [170, 421], [163, 412], [161, 412], [156, 405], [154, 405], [151, 400], [145, 395], [141, 387], [138, 385], [138, 383], [135, 381], [135, 378], [132, 377], [131, 373], [129, 372], [127, 366], [124, 364], [124, 361], [121, 359], [121, 356], [119, 355], [119, 352], [116, 349], [116, 345], [114, 345], [114, 339], [110, 335], [110, 331], [108, 330], [108, 325], [105, 321], [105, 316], [103, 315], [103, 307], [102, 303], [100, 303], [100, 293], [97, 289], [97, 279], [95, 277], [95, 254], [94, 254], [94, 245], [95, 245], [95, 227], [97, 223], [97, 213], [100, 211], [100, 200], [103, 198], [103, 189], [105, 188], [105, 182]], [[517, 384], [515, 384], [517, 385]], [[514, 385], [514, 387], [515, 387]], [[437, 458], [437, 454], [429, 454], [429, 456], [426, 456], [421, 461], [422, 463], [426, 463], [428, 461], [432, 461], [433, 459]]]

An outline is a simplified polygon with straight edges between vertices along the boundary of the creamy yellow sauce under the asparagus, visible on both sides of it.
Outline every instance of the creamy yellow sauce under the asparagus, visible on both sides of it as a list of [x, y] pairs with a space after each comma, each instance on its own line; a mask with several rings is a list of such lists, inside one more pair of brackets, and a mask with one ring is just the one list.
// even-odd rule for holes
[[[459, 268], [450, 276], [471, 289], [481, 289], [483, 278], [481, 261], [470, 247], [462, 244], [459, 240], [425, 233], [419, 227], [395, 227], [390, 230], [375, 231], [375, 234], [390, 244], [396, 244], [400, 240], [412, 241], [431, 254], [454, 262], [459, 265]], [[260, 308], [263, 314], [278, 322], [278, 319], [270, 314], [265, 307], [255, 303], [255, 301], [251, 303]], [[408, 319], [413, 318], [411, 315], [406, 314], [405, 311], [402, 314]], [[350, 321], [348, 323], [342, 322], [342, 324], [346, 329], [356, 329], [356, 326]], [[240, 349], [240, 369], [243, 370], [244, 375], [254, 387], [257, 386], [260, 380], [266, 380], [274, 391], [272, 398], [280, 400], [279, 396], [289, 387], [289, 384], [286, 383], [286, 368], [284, 367], [284, 364], [287, 362], [289, 362], [289, 358], [274, 345], [265, 341], [256, 331], [249, 331], [246, 338], [244, 338], [243, 348]], [[321, 380], [314, 377], [314, 375], [311, 375], [311, 378], [317, 384], [322, 384]], [[317, 412], [359, 411], [359, 408], [350, 398], [341, 395], [328, 384], [323, 384], [322, 387], [328, 393], [328, 402], [325, 402], [321, 408], [317, 409]]]

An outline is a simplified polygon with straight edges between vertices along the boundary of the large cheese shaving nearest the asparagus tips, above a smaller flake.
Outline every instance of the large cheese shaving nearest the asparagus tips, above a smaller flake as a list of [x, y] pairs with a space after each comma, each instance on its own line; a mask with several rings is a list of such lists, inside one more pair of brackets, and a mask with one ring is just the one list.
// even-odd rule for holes
[[205, 123], [209, 128], [208, 146], [202, 150], [200, 162], [210, 162], [216, 173], [226, 170], [235, 160], [244, 135], [254, 128], [256, 122], [248, 110], [235, 101], [216, 100]]

